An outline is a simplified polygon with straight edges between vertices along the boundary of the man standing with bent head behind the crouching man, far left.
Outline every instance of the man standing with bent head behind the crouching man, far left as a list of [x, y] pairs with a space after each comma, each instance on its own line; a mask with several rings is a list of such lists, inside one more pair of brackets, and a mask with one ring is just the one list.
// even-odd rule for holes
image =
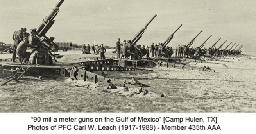
[[[23, 40], [23, 28], [21, 28], [21, 30], [15, 31], [13, 33], [13, 57], [12, 60], [15, 63], [15, 59], [16, 59], [16, 49], [17, 46], [20, 44], [20, 42]], [[21, 62], [21, 58], [19, 58], [19, 62]]]

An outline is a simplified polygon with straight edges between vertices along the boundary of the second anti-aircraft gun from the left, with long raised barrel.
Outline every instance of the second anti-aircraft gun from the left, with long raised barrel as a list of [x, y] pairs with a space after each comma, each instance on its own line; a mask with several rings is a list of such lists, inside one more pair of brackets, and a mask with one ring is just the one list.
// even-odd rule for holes
[[140, 40], [143, 33], [147, 29], [147, 26], [155, 19], [157, 15], [155, 14], [149, 22], [141, 28], [141, 30], [132, 38], [132, 40], [128, 40], [127, 46], [124, 46], [122, 49], [123, 55], [125, 57], [129, 57], [131, 54], [133, 54], [133, 59], [140, 59], [140, 57], [143, 57], [146, 55], [146, 52], [143, 52], [143, 49], [136, 45], [136, 43]]

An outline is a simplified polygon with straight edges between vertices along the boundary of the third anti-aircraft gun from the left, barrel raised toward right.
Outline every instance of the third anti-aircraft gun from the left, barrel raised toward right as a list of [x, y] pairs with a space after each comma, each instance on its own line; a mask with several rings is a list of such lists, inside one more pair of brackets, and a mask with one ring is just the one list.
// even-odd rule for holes
[[[181, 26], [182, 26], [182, 24], [181, 24]], [[181, 26], [179, 26], [179, 28], [181, 28]], [[162, 45], [163, 45], [162, 47], [159, 46], [160, 47], [159, 49], [161, 49], [161, 51], [162, 51], [160, 56], [164, 56], [167, 58], [172, 56], [172, 54], [174, 53], [173, 49], [167, 47], [167, 45], [170, 43], [174, 34], [179, 30], [179, 28], [177, 28], [168, 38], [166, 38], [166, 40], [162, 43]]]

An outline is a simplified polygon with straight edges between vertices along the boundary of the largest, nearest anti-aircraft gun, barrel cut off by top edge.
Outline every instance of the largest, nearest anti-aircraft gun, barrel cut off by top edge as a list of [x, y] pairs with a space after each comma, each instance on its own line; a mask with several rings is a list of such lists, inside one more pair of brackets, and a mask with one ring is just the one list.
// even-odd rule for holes
[[57, 16], [59, 12], [59, 7], [63, 2], [64, 0], [59, 0], [59, 2], [53, 7], [52, 11], [45, 17], [45, 19], [43, 19], [42, 23], [38, 26], [38, 28], [30, 30], [31, 35], [29, 36], [29, 44], [37, 45], [37, 48], [31, 52], [32, 54], [36, 51], [36, 54], [33, 56], [32, 59], [32, 64], [50, 65], [53, 63], [52, 58], [55, 59], [62, 57], [52, 54], [51, 48], [57, 48], [58, 45], [53, 42], [54, 37], [48, 38], [45, 34], [54, 24], [54, 18]]

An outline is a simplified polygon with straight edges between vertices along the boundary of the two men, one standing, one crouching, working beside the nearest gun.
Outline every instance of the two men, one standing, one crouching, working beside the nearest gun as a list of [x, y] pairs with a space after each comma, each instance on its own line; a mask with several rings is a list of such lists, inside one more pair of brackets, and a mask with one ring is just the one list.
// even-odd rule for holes
[[21, 64], [27, 64], [29, 61], [30, 52], [27, 51], [27, 47], [37, 47], [29, 44], [29, 33], [26, 32], [27, 28], [21, 28], [13, 33], [13, 57], [12, 61], [16, 62], [16, 54], [19, 56], [19, 62]]

